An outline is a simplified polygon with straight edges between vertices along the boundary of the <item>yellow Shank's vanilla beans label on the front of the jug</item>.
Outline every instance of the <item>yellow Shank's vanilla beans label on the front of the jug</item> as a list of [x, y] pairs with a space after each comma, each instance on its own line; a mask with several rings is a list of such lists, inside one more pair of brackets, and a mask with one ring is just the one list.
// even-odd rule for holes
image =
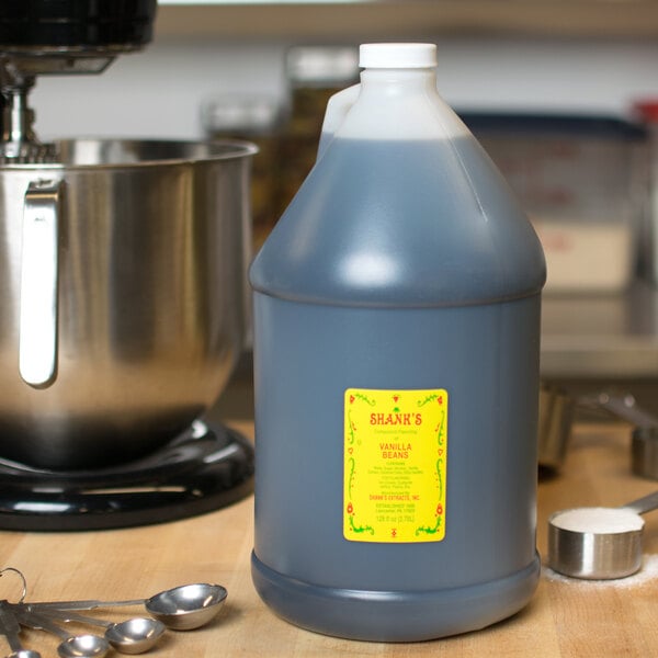
[[348, 388], [344, 409], [345, 540], [443, 540], [447, 392]]

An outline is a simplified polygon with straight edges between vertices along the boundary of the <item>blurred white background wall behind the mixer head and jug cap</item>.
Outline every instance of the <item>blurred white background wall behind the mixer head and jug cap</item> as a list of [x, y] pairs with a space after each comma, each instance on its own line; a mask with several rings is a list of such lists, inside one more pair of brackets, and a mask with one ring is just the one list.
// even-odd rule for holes
[[[658, 98], [658, 43], [439, 38], [439, 87], [461, 109], [624, 115]], [[194, 138], [217, 94], [283, 95], [286, 44], [156, 39], [100, 76], [39, 78], [36, 129], [52, 136]]]

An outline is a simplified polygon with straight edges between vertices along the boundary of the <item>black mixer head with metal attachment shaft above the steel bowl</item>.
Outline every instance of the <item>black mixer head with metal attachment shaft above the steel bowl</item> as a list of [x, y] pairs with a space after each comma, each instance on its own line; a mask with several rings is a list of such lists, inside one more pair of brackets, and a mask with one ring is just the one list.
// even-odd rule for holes
[[36, 76], [100, 73], [152, 36], [157, 0], [0, 2], [0, 163], [57, 161], [34, 134], [27, 94]]

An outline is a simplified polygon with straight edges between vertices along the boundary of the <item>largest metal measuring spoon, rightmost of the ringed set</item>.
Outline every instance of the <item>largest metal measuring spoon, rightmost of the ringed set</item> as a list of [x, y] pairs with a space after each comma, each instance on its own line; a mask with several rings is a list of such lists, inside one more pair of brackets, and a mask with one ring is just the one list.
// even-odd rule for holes
[[191, 631], [207, 624], [218, 612], [228, 592], [220, 585], [207, 582], [181, 585], [154, 594], [149, 599], [133, 599], [126, 601], [53, 601], [47, 603], [31, 603], [30, 606], [38, 612], [47, 609], [57, 610], [95, 610], [97, 608], [123, 608], [144, 605], [146, 611], [174, 631]]

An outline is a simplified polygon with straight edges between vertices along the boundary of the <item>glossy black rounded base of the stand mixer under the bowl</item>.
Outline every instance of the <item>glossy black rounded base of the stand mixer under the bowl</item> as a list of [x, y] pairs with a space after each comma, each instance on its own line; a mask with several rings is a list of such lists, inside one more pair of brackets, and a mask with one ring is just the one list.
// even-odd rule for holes
[[195, 421], [158, 452], [105, 469], [53, 472], [0, 460], [0, 529], [86, 531], [209, 512], [253, 490], [253, 446]]

